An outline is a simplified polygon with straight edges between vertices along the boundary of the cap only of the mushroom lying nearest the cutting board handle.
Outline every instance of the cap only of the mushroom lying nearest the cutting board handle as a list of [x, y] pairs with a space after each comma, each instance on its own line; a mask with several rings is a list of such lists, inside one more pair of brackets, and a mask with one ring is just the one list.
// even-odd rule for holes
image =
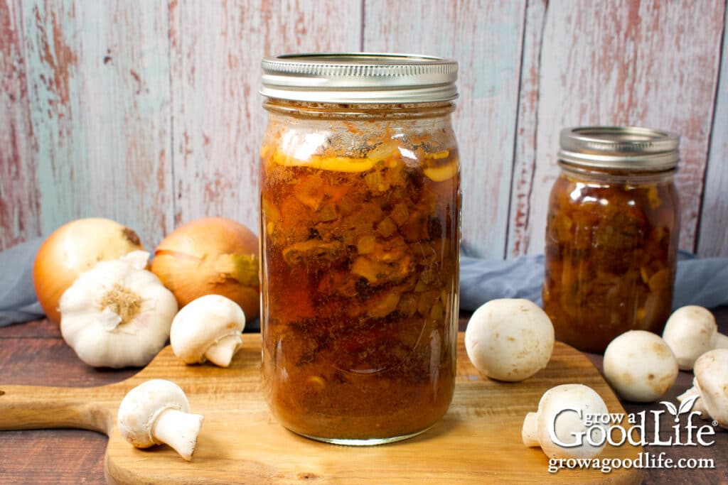
[[152, 436], [154, 422], [166, 409], [189, 412], [184, 391], [174, 382], [152, 379], [127, 393], [119, 404], [117, 422], [119, 433], [137, 448], [161, 444]]

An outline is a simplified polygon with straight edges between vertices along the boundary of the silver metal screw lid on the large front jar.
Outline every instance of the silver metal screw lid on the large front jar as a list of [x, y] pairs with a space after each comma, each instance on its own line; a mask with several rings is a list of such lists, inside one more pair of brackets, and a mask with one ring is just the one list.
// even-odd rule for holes
[[411, 54], [268, 57], [261, 95], [312, 103], [432, 103], [457, 97], [457, 63]]

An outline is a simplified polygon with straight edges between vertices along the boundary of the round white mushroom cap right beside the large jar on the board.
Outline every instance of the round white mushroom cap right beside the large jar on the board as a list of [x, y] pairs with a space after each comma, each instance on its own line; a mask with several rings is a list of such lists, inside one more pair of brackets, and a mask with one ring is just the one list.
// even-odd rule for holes
[[553, 324], [529, 300], [501, 298], [475, 310], [465, 330], [465, 349], [478, 371], [496, 380], [519, 381], [543, 369], [553, 351]]

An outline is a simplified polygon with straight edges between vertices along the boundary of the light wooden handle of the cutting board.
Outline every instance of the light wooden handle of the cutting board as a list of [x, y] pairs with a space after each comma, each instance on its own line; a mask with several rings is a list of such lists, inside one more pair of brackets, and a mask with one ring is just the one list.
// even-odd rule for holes
[[80, 428], [108, 435], [114, 414], [90, 400], [93, 389], [100, 388], [0, 384], [0, 430]]

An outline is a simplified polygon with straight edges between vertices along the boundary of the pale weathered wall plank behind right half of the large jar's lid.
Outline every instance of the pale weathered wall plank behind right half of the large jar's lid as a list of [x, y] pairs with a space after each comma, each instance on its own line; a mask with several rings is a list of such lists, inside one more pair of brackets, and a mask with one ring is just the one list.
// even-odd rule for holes
[[463, 245], [472, 254], [495, 258], [505, 252], [525, 4], [420, 0], [392, 9], [388, 2], [372, 1], [364, 10], [364, 50], [422, 52], [459, 61], [454, 128], [460, 145]]

